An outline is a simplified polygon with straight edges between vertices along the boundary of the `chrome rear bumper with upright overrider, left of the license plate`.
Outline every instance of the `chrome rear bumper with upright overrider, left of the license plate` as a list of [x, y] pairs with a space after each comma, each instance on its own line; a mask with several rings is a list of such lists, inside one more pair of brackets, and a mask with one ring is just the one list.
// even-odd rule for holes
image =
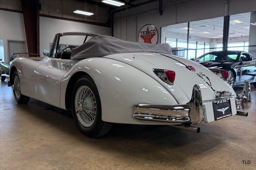
[[199, 124], [204, 119], [202, 93], [199, 85], [193, 86], [191, 100], [186, 105], [150, 105], [138, 103], [133, 117], [146, 121]]

